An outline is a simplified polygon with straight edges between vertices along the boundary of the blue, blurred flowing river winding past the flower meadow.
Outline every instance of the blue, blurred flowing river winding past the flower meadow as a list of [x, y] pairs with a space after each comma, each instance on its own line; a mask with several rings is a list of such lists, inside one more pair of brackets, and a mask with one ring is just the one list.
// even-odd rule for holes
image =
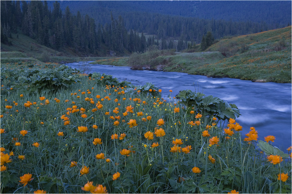
[[[84, 65], [84, 62], [66, 65], [78, 68], [81, 64]], [[179, 72], [131, 70], [130, 67], [88, 64], [88, 73], [93, 72], [109, 74], [117, 77], [119, 81], [129, 81], [134, 85], [151, 82], [162, 90], [162, 97], [165, 99], [170, 89], [173, 91], [171, 96], [187, 89], [213, 95], [237, 105], [241, 115], [236, 121], [243, 127], [241, 132], [244, 137], [250, 127], [255, 127], [258, 130], [258, 140], [264, 141], [265, 136], [274, 135], [276, 140], [273, 145], [285, 153], [286, 148], [291, 146], [290, 83], [259, 83], [233, 78], [209, 78]]]

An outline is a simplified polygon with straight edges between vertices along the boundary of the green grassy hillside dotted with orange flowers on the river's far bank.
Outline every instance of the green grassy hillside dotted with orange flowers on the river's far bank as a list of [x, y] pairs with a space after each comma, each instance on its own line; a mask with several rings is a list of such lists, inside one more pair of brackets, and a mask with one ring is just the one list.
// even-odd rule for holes
[[[132, 55], [128, 61], [123, 57], [95, 61], [95, 64], [132, 66], [134, 69], [150, 67], [153, 70], [194, 75], [291, 83], [291, 26], [223, 39], [204, 52], [176, 53], [152, 58], [149, 55], [152, 54], [146, 52], [140, 57]], [[135, 57], [136, 60], [132, 60]]]

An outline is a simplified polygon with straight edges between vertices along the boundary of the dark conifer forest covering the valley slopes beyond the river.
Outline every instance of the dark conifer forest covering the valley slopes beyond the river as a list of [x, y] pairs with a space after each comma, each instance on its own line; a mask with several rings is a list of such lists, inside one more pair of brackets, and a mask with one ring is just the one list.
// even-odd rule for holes
[[[83, 11], [84, 8], [90, 7], [90, 3], [92, 6], [88, 9], [88, 14], [83, 12], [81, 14], [79, 11], [74, 11], [73, 14], [69, 6], [62, 10], [64, 3], [71, 5], [74, 10], [80, 8]], [[98, 3], [99, 6], [93, 6], [94, 3]], [[124, 3], [123, 6], [121, 3]], [[161, 9], [155, 6], [157, 3], [160, 3], [160, 7], [164, 6], [161, 13], [154, 13], [155, 10]], [[178, 4], [177, 12], [185, 9], [185, 15], [180, 15], [188, 17], [172, 13], [169, 7], [172, 3]], [[275, 24], [263, 21], [258, 23], [190, 17], [190, 9], [196, 8], [194, 9], [196, 13], [201, 10], [197, 7], [201, 3], [197, 1], [189, 3], [191, 5], [189, 8], [185, 1], [164, 4], [167, 3], [165, 1], [1, 1], [1, 42], [9, 44], [8, 38], [11, 38], [11, 33], [21, 31], [38, 43], [55, 50], [70, 47], [76, 53], [121, 55], [144, 52], [151, 45], [157, 45], [159, 49], [180, 51], [202, 40], [204, 45], [201, 45], [201, 48], [204, 49], [206, 45], [210, 45], [210, 43], [205, 44], [204, 38], [207, 32], [211, 33], [208, 36], [212, 36], [213, 40], [224, 36], [269, 30]], [[144, 7], [141, 11], [149, 12], [133, 11], [140, 7]], [[267, 6], [264, 8], [267, 9]], [[280, 25], [277, 22], [276, 24]], [[152, 36], [146, 38], [143, 32]], [[100, 50], [103, 50], [102, 53]]]

